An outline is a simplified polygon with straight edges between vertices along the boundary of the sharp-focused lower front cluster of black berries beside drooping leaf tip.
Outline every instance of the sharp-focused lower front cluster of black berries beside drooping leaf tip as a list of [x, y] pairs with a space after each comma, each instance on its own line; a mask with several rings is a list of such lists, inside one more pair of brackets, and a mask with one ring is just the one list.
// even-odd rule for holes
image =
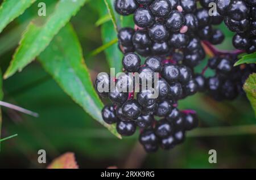
[[[183, 142], [185, 131], [192, 130], [198, 124], [195, 112], [177, 109], [177, 100], [193, 95], [198, 85], [193, 79], [192, 70], [184, 65], [166, 63], [158, 57], [148, 57], [141, 65], [141, 58], [137, 54], [127, 53], [123, 57], [123, 67], [126, 73], [115, 78], [113, 92], [99, 93], [102, 97], [109, 97], [113, 105], [106, 105], [102, 110], [102, 117], [106, 123], [117, 123], [117, 131], [123, 136], [133, 135], [136, 128], [141, 128], [140, 142], [147, 152], [155, 152], [159, 145], [163, 149], [170, 149]], [[132, 72], [130, 75], [128, 72]], [[138, 72], [140, 78], [154, 79], [154, 72], [159, 73], [159, 80], [154, 84], [158, 89], [158, 96], [149, 88], [139, 88], [136, 98], [130, 96], [133, 92], [121, 92], [118, 89], [133, 85], [133, 73]], [[149, 74], [149, 75], [148, 75]], [[100, 75], [96, 79], [98, 85], [110, 87], [108, 75]], [[104, 83], [102, 83], [104, 82]], [[100, 84], [101, 83], [101, 84]], [[108, 88], [107, 88], [108, 89]], [[159, 118], [163, 118], [160, 119]], [[158, 121], [156, 120], [158, 119]]]

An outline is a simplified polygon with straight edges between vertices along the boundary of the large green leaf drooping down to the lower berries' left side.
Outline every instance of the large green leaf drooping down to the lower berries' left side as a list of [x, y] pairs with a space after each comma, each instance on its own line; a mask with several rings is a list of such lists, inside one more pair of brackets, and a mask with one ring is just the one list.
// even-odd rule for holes
[[101, 117], [104, 107], [94, 90], [88, 68], [82, 58], [80, 42], [71, 25], [67, 25], [54, 38], [39, 61], [60, 87], [94, 119], [121, 138], [114, 125], [107, 125]]

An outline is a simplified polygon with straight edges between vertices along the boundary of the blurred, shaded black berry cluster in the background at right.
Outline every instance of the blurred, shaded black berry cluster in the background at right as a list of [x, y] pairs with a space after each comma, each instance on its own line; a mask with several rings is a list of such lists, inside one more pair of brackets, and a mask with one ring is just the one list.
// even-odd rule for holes
[[230, 56], [210, 58], [208, 66], [216, 71], [216, 75], [207, 81], [207, 89], [216, 100], [233, 100], [243, 94], [242, 86], [253, 72], [255, 64], [233, 67], [237, 59]]

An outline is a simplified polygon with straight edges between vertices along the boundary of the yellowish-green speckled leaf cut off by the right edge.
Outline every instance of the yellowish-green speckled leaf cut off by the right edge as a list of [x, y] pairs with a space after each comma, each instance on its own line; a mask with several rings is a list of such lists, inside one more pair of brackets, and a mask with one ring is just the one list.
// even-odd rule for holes
[[256, 117], [256, 73], [253, 73], [249, 76], [245, 84], [243, 84], [243, 89], [246, 92], [247, 98], [251, 102], [251, 106], [254, 109]]

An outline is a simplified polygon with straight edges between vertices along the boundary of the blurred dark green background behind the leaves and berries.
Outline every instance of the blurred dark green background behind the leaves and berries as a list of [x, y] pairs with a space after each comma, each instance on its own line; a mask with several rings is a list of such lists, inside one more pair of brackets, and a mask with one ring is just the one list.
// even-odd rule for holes
[[[71, 20], [93, 81], [98, 72], [109, 72], [103, 52], [88, 57], [102, 45], [101, 27], [95, 24], [102, 15], [98, 5], [105, 8], [102, 1], [89, 1]], [[49, 7], [47, 13], [51, 13], [53, 1], [44, 2]], [[36, 15], [37, 11], [35, 3], [1, 33], [2, 72], [9, 66], [31, 14]], [[40, 20], [43, 22], [44, 18]], [[226, 40], [218, 48], [232, 49], [233, 34], [224, 24], [220, 28], [225, 32]], [[117, 44], [111, 48], [117, 49]], [[207, 59], [197, 71], [201, 71], [206, 63]], [[212, 72], [207, 71], [207, 75]], [[39, 149], [46, 150], [47, 164], [62, 153], [74, 152], [80, 168], [113, 165], [118, 168], [256, 168], [255, 117], [245, 96], [232, 102], [217, 102], [200, 93], [186, 98], [179, 103], [179, 108], [195, 109], [200, 127], [187, 134], [185, 143], [175, 149], [146, 154], [138, 143], [138, 134], [117, 139], [73, 102], [37, 61], [4, 80], [3, 91], [3, 101], [30, 109], [40, 116], [34, 118], [2, 108], [2, 137], [18, 136], [1, 144], [0, 168], [46, 168], [46, 164], [37, 162]], [[208, 162], [210, 149], [217, 151], [217, 164]]]

